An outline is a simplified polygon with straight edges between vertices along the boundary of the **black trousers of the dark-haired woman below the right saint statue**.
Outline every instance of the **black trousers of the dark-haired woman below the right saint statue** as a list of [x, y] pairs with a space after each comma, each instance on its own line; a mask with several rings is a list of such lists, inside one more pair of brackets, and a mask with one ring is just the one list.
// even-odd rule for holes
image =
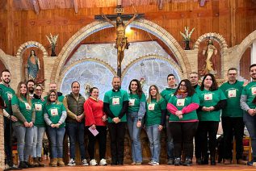
[[[199, 151], [202, 152], [203, 158], [208, 158], [208, 143], [211, 158], [214, 159], [216, 155], [216, 135], [219, 127], [218, 121], [199, 121], [199, 140], [201, 145], [198, 146]], [[209, 142], [208, 142], [209, 137]]]

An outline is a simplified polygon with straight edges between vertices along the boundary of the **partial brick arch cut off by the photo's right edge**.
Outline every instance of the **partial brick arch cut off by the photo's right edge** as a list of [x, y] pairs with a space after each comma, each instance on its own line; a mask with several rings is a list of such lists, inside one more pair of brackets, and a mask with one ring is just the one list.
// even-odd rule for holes
[[251, 32], [250, 35], [247, 35], [247, 37], [242, 40], [241, 44], [237, 46], [237, 64], [239, 64], [242, 55], [246, 52], [250, 44], [253, 44], [254, 40], [256, 40], [256, 30]]

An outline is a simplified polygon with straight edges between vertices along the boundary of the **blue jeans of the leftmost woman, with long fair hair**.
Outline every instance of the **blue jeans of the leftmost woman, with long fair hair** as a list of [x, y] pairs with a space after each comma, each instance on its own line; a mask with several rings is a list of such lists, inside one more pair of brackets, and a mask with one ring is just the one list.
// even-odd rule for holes
[[28, 161], [28, 156], [31, 154], [34, 128], [15, 126], [15, 135], [17, 137], [17, 150], [19, 161]]

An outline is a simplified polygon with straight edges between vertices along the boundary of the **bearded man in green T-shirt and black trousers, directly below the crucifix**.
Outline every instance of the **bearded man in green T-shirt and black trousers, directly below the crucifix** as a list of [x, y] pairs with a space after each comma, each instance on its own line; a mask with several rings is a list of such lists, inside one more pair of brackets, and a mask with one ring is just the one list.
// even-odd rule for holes
[[111, 138], [111, 165], [123, 165], [124, 162], [124, 136], [126, 113], [128, 111], [128, 92], [121, 90], [121, 78], [112, 79], [113, 89], [104, 95], [103, 109], [107, 114], [107, 126]]

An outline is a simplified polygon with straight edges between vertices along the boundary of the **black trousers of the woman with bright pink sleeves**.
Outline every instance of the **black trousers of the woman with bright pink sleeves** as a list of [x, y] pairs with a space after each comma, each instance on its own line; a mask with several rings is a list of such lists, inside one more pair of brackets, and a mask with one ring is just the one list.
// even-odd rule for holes
[[[194, 123], [169, 123], [170, 133], [174, 138], [174, 157], [181, 157], [182, 150], [186, 158], [193, 158], [193, 137], [198, 126], [198, 122]], [[183, 149], [182, 149], [183, 148]]]

